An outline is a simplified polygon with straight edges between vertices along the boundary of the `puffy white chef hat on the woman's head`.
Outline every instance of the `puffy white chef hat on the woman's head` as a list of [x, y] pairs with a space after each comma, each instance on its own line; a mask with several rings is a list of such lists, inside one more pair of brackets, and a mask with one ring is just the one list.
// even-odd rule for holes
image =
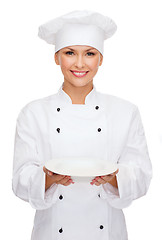
[[103, 54], [104, 40], [117, 29], [107, 16], [91, 11], [74, 11], [39, 27], [38, 36], [55, 45], [55, 52], [72, 45], [86, 45]]

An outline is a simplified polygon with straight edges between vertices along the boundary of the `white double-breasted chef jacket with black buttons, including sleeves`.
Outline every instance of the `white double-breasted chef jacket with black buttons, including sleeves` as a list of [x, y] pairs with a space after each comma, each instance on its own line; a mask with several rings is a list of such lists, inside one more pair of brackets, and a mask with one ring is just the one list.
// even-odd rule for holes
[[[152, 177], [138, 108], [93, 89], [73, 104], [62, 86], [27, 104], [17, 119], [13, 191], [36, 209], [32, 240], [127, 240], [122, 209], [146, 194]], [[117, 163], [109, 183], [53, 184], [45, 192], [46, 161], [89, 157]]]

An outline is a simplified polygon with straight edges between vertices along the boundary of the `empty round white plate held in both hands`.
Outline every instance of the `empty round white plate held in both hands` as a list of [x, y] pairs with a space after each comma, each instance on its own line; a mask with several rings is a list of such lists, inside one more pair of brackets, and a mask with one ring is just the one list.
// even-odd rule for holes
[[103, 176], [117, 170], [117, 164], [90, 158], [57, 158], [46, 162], [45, 167], [57, 174], [78, 177]]

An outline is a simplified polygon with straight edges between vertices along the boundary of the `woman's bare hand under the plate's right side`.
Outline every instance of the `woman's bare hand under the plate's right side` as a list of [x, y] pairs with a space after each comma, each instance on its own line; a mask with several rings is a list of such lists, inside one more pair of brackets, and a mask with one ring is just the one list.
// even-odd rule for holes
[[114, 173], [109, 174], [109, 175], [104, 175], [104, 176], [99, 176], [99, 177], [95, 177], [91, 184], [95, 184], [96, 186], [99, 186], [101, 184], [105, 184], [105, 183], [110, 183], [113, 187], [118, 188], [118, 184], [117, 184], [117, 179], [116, 179], [116, 174], [119, 172], [119, 169], [117, 169]]

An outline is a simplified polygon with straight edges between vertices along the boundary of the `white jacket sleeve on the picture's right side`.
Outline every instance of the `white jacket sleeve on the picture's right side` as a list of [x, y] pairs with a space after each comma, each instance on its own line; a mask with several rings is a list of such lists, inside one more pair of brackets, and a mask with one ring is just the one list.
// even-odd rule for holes
[[118, 189], [107, 183], [102, 185], [101, 192], [112, 207], [122, 209], [146, 194], [152, 178], [152, 165], [138, 108], [132, 114], [118, 169]]

